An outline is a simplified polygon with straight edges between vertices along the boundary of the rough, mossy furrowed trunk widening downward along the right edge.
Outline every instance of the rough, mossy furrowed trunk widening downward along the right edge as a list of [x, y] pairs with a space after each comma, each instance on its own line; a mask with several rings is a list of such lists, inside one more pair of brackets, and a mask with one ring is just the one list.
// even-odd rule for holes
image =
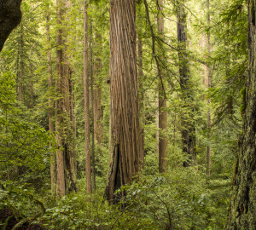
[[256, 66], [255, 66], [255, 1], [248, 0], [248, 72], [245, 114], [236, 158], [232, 198], [226, 229], [253, 230], [256, 227]]

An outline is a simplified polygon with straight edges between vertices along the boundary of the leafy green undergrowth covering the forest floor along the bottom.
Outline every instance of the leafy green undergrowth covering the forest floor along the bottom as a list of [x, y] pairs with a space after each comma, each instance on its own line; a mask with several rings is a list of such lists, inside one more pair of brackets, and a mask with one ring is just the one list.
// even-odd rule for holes
[[[47, 229], [223, 229], [229, 206], [229, 184], [209, 180], [197, 168], [141, 175], [119, 204], [109, 205], [103, 189], [63, 198], [35, 193], [29, 185], [7, 181], [0, 187], [0, 209]], [[40, 198], [38, 198], [40, 197]]]

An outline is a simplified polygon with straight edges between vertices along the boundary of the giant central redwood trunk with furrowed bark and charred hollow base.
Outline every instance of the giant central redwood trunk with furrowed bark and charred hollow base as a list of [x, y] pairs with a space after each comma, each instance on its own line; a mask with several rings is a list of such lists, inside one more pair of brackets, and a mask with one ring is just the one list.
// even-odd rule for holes
[[[139, 169], [143, 148], [137, 102], [135, 1], [113, 0], [110, 4], [110, 95], [111, 141], [106, 193], [131, 183]], [[120, 193], [119, 196], [124, 196]]]

